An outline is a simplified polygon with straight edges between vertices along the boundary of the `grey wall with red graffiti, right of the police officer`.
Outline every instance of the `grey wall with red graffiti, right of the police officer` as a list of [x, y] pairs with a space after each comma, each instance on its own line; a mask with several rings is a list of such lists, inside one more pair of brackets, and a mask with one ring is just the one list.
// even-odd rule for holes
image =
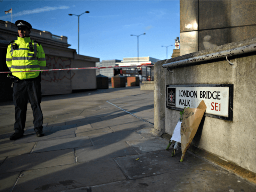
[[[95, 67], [99, 58], [77, 55], [68, 48], [42, 44], [46, 69]], [[72, 90], [96, 89], [95, 69], [42, 72], [42, 95], [68, 94]]]

